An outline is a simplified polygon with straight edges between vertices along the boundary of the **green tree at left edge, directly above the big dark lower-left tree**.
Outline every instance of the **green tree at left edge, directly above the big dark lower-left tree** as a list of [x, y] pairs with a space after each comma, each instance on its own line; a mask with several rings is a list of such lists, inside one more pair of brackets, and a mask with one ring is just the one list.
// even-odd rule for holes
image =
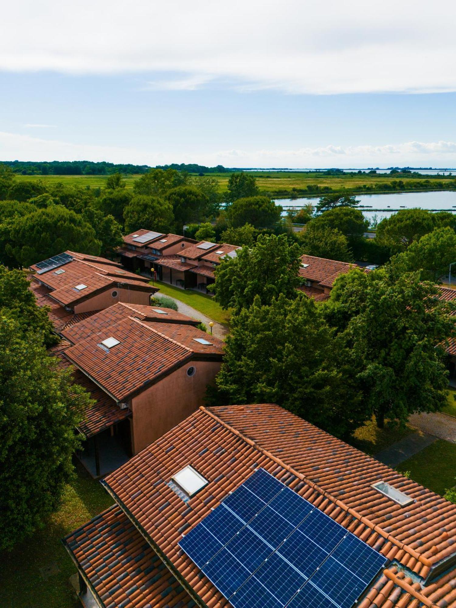
[[37, 306], [35, 295], [29, 289], [26, 272], [0, 265], [0, 311], [9, 311], [21, 326], [22, 333], [33, 331], [41, 336], [46, 347], [58, 343], [54, 327], [47, 316], [47, 308]]

